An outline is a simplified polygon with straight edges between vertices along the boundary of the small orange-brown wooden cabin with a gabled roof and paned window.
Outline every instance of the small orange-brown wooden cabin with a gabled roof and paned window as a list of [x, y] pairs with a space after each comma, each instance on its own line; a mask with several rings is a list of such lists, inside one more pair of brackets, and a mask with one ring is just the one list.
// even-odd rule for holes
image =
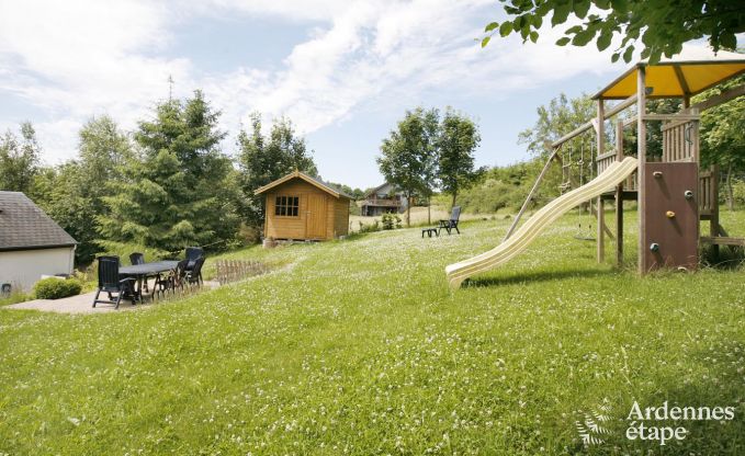
[[300, 171], [257, 189], [266, 196], [267, 238], [327, 240], [349, 233], [351, 196]]

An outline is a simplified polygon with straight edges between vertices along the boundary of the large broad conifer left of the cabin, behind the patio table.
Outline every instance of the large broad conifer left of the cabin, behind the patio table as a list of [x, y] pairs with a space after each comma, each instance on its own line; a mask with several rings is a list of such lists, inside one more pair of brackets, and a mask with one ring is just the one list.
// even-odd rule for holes
[[155, 119], [139, 124], [140, 150], [123, 164], [116, 194], [103, 198], [110, 214], [98, 217], [106, 239], [174, 252], [235, 238], [238, 217], [225, 191], [232, 164], [219, 150], [218, 116], [196, 91], [160, 103]]

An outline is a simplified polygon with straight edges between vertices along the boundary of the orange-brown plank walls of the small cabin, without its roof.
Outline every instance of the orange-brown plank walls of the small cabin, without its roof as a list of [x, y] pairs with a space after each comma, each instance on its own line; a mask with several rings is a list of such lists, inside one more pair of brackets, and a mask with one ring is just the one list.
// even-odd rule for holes
[[[324, 213], [325, 236], [307, 236], [308, 224], [308, 198], [318, 195], [325, 198]], [[336, 198], [323, 190], [301, 180], [293, 179], [266, 193], [267, 219], [264, 221], [264, 236], [274, 239], [334, 239], [347, 235], [349, 231], [349, 200]], [[300, 209], [297, 217], [274, 215], [276, 196], [298, 196]], [[339, 203], [343, 202], [345, 210]], [[343, 225], [343, 227], [342, 227]]]

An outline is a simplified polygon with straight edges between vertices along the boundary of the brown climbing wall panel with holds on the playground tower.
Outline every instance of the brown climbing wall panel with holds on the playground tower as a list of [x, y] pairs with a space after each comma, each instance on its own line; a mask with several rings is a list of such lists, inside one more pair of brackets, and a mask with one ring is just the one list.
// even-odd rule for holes
[[646, 163], [644, 271], [698, 266], [698, 164]]

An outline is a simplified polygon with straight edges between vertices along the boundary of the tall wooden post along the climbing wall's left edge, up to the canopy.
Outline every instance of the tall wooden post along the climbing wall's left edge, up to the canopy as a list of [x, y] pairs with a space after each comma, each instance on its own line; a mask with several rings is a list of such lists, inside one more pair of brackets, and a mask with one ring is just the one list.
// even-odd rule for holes
[[646, 273], [646, 189], [644, 180], [646, 178], [646, 69], [640, 65], [636, 69], [636, 160], [639, 162], [639, 185], [636, 201], [639, 207], [639, 272]]

